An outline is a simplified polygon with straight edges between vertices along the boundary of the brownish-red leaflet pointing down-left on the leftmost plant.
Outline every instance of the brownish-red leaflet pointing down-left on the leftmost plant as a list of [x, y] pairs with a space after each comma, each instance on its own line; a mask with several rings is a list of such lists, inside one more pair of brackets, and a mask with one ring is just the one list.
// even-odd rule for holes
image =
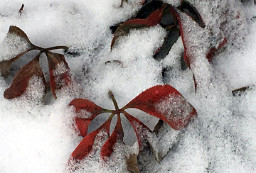
[[18, 71], [14, 77], [13, 82], [11, 83], [11, 86], [6, 89], [6, 91], [4, 91], [5, 99], [14, 99], [18, 96], [21, 96], [23, 92], [26, 91], [26, 88], [28, 87], [28, 81], [33, 76], [41, 77], [43, 84], [46, 86], [46, 79], [43, 77], [43, 71], [39, 65], [40, 55], [41, 53]]

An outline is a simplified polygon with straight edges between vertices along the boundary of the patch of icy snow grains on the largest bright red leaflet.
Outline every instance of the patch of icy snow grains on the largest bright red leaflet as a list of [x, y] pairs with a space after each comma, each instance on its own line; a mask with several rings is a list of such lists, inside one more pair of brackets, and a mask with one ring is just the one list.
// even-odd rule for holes
[[[163, 114], [169, 121], [188, 121], [188, 116], [193, 110], [191, 104], [178, 94], [169, 94], [155, 105], [156, 111]], [[186, 123], [186, 122], [184, 122]]]

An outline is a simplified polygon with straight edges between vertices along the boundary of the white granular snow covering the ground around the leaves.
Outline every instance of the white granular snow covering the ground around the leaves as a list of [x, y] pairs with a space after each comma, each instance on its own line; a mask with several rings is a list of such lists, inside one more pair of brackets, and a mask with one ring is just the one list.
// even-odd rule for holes
[[[166, 2], [178, 6], [180, 1]], [[133, 16], [139, 9], [139, 1], [128, 1], [122, 7], [119, 0], [1, 1], [0, 60], [9, 60], [9, 55], [17, 54], [17, 48], [28, 48], [25, 40], [19, 38], [14, 39], [15, 48], [6, 47], [9, 26], [18, 26], [34, 45], [70, 48], [69, 52], [53, 52], [65, 55], [75, 84], [72, 89], [65, 87], [58, 91], [56, 100], [48, 91], [43, 104], [41, 79], [33, 77], [24, 96], [4, 99], [4, 90], [18, 69], [35, 57], [37, 51], [14, 62], [8, 78], [0, 77], [0, 172], [70, 172], [68, 160], [82, 140], [74, 128], [74, 110], [68, 106], [72, 99], [82, 97], [102, 108], [114, 109], [107, 94], [112, 90], [122, 108], [145, 89], [164, 83], [174, 86], [196, 108], [198, 117], [183, 130], [164, 125], [159, 135], [152, 136], [151, 144], [164, 158], [159, 163], [150, 151], [145, 151], [139, 156], [141, 172], [255, 172], [256, 7], [253, 1], [189, 2], [201, 13], [206, 28], [200, 28], [185, 13], [178, 12], [194, 58], [192, 70], [183, 71], [181, 38], [164, 60], [156, 62], [152, 58], [166, 34], [161, 26], [131, 30], [110, 51], [110, 26]], [[21, 4], [24, 8], [19, 13]], [[228, 45], [208, 63], [206, 53], [211, 46], [217, 48], [223, 38]], [[40, 61], [48, 81], [46, 56], [41, 55]], [[169, 69], [164, 79], [163, 67]], [[193, 74], [198, 82], [196, 93]], [[250, 89], [233, 96], [232, 91], [243, 86]], [[157, 123], [142, 111], [127, 111], [151, 130]], [[82, 112], [80, 116], [90, 115]], [[104, 113], [90, 126], [101, 125], [108, 116]], [[122, 126], [124, 142], [134, 146], [117, 144], [107, 163], [95, 152], [75, 172], [127, 172], [126, 157], [137, 151], [137, 142], [132, 125], [124, 116]]]

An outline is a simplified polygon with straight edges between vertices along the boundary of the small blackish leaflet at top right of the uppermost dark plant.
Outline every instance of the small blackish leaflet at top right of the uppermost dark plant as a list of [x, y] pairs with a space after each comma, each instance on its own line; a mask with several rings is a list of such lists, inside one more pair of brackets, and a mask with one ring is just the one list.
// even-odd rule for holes
[[206, 24], [203, 22], [200, 13], [198, 13], [195, 7], [193, 7], [188, 1], [182, 0], [179, 9], [182, 12], [186, 13], [188, 16], [190, 16], [194, 21], [196, 21], [199, 26], [201, 26], [202, 28], [206, 27]]

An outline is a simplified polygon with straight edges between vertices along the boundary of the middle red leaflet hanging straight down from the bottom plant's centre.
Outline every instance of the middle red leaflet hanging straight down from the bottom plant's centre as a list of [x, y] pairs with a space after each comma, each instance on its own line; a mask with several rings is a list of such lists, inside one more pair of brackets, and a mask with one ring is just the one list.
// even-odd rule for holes
[[122, 128], [120, 115], [117, 116], [117, 124], [114, 127], [113, 133], [108, 138], [107, 142], [103, 145], [101, 150], [101, 156], [103, 160], [107, 160], [107, 157], [110, 157], [112, 152], [114, 151], [114, 145], [118, 142], [123, 142], [124, 138], [124, 130]]

